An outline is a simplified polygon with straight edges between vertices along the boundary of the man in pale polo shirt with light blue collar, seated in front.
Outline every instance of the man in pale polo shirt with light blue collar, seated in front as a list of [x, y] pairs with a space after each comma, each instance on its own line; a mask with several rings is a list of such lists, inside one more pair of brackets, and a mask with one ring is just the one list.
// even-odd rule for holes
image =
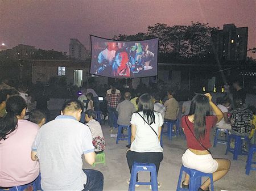
[[61, 115], [40, 128], [31, 159], [39, 160], [43, 190], [103, 190], [101, 172], [82, 169], [82, 158], [92, 165], [96, 154], [88, 126], [79, 122], [79, 100], [67, 101]]

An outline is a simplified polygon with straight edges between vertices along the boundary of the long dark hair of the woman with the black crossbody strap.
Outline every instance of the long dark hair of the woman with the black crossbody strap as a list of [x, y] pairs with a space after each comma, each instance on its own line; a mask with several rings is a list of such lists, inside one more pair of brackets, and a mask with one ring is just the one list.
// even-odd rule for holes
[[139, 97], [138, 112], [143, 112], [143, 116], [146, 116], [148, 124], [155, 122], [154, 114], [154, 98], [149, 94], [142, 94]]

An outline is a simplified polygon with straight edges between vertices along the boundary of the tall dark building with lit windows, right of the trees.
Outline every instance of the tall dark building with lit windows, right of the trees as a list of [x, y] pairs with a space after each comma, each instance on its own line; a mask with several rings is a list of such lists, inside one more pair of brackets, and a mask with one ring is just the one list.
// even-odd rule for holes
[[213, 47], [220, 61], [244, 61], [247, 57], [248, 27], [224, 24], [212, 34]]

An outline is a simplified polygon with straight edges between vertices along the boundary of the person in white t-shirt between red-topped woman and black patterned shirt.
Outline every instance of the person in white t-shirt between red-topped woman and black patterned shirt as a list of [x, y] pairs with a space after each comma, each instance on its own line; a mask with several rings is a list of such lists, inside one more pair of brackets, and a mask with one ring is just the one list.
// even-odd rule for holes
[[[223, 113], [223, 118], [220, 122], [218, 122], [216, 124], [216, 127], [217, 128], [220, 128], [220, 129], [228, 129], [230, 130], [231, 129], [231, 125], [229, 124], [229, 119], [228, 119], [228, 108], [230, 106], [230, 99], [224, 99], [222, 97], [218, 97], [217, 98], [217, 107], [221, 110], [221, 112]], [[215, 113], [214, 113], [215, 115]]]

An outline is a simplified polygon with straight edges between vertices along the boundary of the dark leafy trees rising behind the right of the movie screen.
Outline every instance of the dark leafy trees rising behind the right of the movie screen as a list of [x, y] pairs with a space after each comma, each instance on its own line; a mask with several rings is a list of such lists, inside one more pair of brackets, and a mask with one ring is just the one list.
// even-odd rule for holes
[[[189, 26], [168, 26], [165, 23], [156, 23], [148, 26], [147, 32], [136, 35], [114, 36], [114, 40], [138, 41], [159, 37], [160, 62], [204, 62], [214, 61], [211, 45], [211, 35], [218, 28], [209, 27], [208, 23], [192, 22]], [[209, 62], [207, 62], [209, 63]]]

